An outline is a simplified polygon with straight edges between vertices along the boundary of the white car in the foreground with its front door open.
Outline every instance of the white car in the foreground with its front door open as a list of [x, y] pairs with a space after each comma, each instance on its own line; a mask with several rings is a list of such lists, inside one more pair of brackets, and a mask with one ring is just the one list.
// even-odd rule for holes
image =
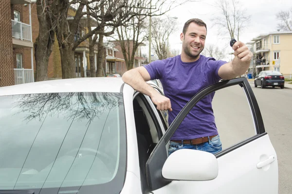
[[[256, 134], [216, 155], [181, 149], [168, 157], [191, 108], [233, 85], [247, 94]], [[206, 87], [169, 128], [151, 99], [121, 78], [2, 87], [0, 134], [0, 190], [11, 194], [278, 193], [277, 156], [245, 78]]]

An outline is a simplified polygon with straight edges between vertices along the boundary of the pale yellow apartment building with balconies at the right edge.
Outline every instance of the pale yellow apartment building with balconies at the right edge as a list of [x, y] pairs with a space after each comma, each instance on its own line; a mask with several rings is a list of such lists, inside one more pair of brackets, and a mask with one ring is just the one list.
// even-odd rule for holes
[[249, 73], [256, 75], [263, 70], [280, 71], [291, 74], [292, 31], [260, 34], [247, 43], [254, 54]]

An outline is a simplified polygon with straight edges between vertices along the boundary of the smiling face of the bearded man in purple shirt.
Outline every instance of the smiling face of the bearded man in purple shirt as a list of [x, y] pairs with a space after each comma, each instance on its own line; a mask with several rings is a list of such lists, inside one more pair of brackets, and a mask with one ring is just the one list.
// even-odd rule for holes
[[185, 35], [181, 33], [181, 40], [183, 41], [183, 49], [187, 56], [191, 59], [197, 59], [205, 46], [205, 39], [207, 30], [204, 26], [199, 26], [196, 23], [190, 23]]

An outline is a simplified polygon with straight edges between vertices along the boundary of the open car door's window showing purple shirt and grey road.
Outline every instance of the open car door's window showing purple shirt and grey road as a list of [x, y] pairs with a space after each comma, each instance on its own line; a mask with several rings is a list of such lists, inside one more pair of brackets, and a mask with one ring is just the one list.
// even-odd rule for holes
[[[205, 102], [211, 100], [212, 97], [212, 106], [206, 107]], [[189, 120], [192, 120], [191, 126], [188, 125]], [[189, 133], [189, 131], [192, 132]], [[239, 85], [235, 85], [202, 98], [193, 107], [192, 112], [183, 119], [179, 129], [174, 132], [174, 136], [219, 134], [222, 151], [224, 151], [224, 149], [256, 135], [255, 131], [253, 115], [246, 94]], [[219, 146], [221, 147], [221, 145]]]

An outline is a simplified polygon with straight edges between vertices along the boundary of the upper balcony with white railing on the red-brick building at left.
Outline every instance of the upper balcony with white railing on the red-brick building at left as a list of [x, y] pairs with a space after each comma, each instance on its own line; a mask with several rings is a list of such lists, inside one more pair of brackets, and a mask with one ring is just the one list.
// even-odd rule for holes
[[14, 48], [33, 47], [31, 37], [31, 26], [19, 21], [11, 20], [12, 23], [12, 43]]

